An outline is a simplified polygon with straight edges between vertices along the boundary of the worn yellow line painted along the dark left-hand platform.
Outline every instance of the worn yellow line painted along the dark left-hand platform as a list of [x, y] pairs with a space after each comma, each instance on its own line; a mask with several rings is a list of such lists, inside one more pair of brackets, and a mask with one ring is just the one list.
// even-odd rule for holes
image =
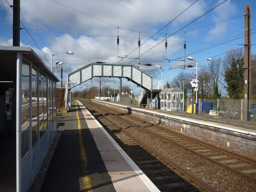
[[[76, 102], [76, 101], [75, 101]], [[79, 140], [79, 145], [80, 145], [80, 155], [81, 155], [81, 160], [82, 160], [82, 170], [86, 176], [83, 177], [83, 190], [92, 192], [92, 185], [91, 185], [91, 180], [90, 177], [88, 176], [88, 162], [87, 162], [87, 157], [86, 157], [86, 151], [84, 148], [84, 140], [82, 137], [82, 130], [81, 130], [81, 123], [80, 123], [80, 118], [78, 116], [78, 105], [76, 102], [76, 117], [77, 117], [77, 126], [78, 126], [78, 140]]]

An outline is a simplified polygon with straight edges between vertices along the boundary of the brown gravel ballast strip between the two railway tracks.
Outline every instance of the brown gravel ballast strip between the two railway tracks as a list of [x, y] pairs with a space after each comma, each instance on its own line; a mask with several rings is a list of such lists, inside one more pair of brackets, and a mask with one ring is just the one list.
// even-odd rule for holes
[[256, 189], [255, 183], [164, 139], [158, 138], [148, 131], [134, 127], [130, 127], [128, 130], [218, 191], [253, 192]]

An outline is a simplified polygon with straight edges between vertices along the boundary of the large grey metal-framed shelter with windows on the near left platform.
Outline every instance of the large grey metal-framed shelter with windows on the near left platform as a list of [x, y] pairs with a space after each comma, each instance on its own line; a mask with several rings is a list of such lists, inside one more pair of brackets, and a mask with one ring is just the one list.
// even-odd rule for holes
[[26, 192], [57, 133], [59, 80], [30, 47], [0, 46], [0, 69], [0, 191]]

